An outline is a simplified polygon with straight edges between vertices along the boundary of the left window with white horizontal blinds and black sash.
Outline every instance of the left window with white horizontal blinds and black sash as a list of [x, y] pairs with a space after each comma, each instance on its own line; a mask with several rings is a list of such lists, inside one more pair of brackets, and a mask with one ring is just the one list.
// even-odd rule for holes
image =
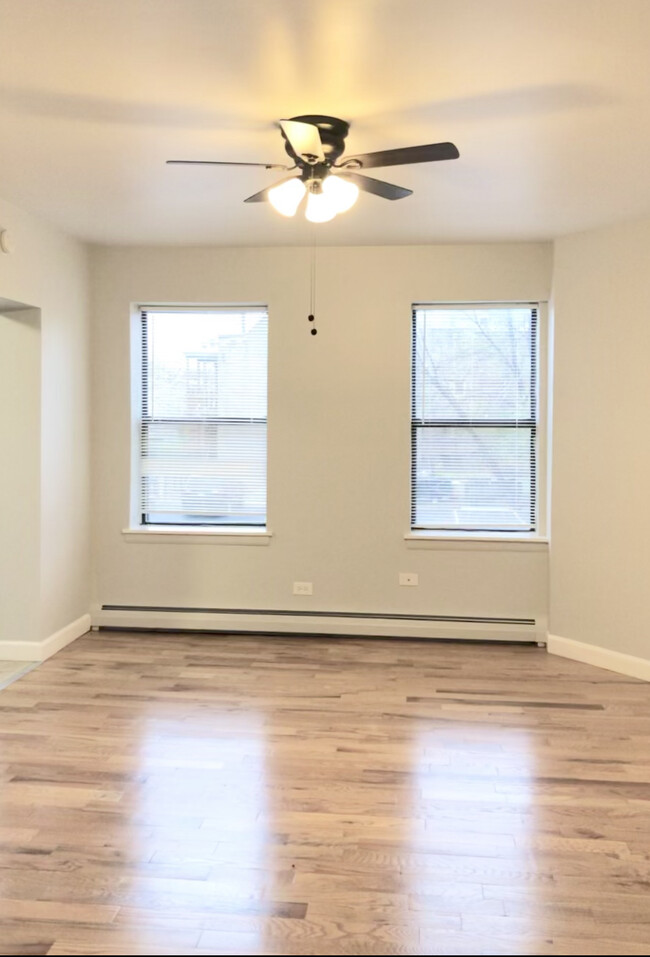
[[268, 314], [142, 307], [143, 525], [266, 524]]

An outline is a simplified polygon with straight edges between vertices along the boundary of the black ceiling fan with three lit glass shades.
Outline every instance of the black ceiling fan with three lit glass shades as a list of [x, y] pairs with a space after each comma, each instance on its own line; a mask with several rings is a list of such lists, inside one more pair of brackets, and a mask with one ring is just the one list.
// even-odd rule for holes
[[[295, 175], [254, 193], [245, 203], [270, 202], [283, 216], [294, 216], [305, 195], [307, 219], [315, 223], [327, 222], [337, 213], [343, 213], [357, 200], [359, 190], [374, 193], [383, 199], [404, 199], [413, 190], [394, 186], [383, 180], [364, 176], [359, 170], [381, 166], [404, 166], [410, 163], [432, 163], [436, 160], [458, 159], [453, 143], [431, 143], [428, 146], [406, 146], [402, 149], [380, 150], [343, 156], [349, 123], [334, 116], [318, 114], [294, 116], [280, 120], [284, 148], [293, 166], [281, 163], [236, 163], [221, 160], [167, 160], [168, 163], [189, 163], [202, 166], [262, 166], [264, 169], [282, 169]], [[339, 162], [340, 160], [340, 162]]]

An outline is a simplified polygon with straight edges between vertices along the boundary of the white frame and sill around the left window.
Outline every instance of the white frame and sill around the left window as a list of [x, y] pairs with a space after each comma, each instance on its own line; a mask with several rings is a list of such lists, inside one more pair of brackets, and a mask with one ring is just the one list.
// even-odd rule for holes
[[[268, 503], [265, 526], [237, 525], [153, 525], [143, 524], [140, 502], [141, 471], [141, 424], [143, 399], [143, 353], [142, 353], [142, 313], [179, 312], [183, 309], [209, 311], [211, 309], [265, 309], [268, 305], [260, 303], [214, 303], [214, 302], [177, 302], [177, 303], [133, 303], [131, 305], [131, 467], [129, 521], [122, 529], [125, 541], [146, 544], [220, 544], [220, 545], [269, 545], [272, 532], [268, 525]], [[268, 413], [267, 413], [268, 429]], [[268, 487], [268, 475], [267, 475]]]

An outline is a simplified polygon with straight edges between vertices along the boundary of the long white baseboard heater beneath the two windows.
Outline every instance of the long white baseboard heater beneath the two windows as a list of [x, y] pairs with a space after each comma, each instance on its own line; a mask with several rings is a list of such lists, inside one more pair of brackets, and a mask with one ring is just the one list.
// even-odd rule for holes
[[[545, 622], [544, 622], [545, 625]], [[92, 626], [172, 631], [251, 632], [253, 634], [337, 635], [368, 638], [464, 638], [474, 641], [546, 641], [537, 625], [422, 621], [331, 615], [232, 614], [216, 611], [96, 609]]]

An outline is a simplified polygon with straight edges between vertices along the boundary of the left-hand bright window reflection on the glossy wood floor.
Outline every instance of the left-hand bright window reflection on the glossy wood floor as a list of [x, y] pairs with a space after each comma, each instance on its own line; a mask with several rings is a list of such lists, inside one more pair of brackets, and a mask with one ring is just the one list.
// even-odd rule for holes
[[[261, 952], [255, 916], [263, 916], [260, 902], [273, 896], [264, 714], [227, 704], [223, 710], [211, 704], [201, 715], [188, 710], [182, 718], [148, 718], [143, 726], [133, 820], [151, 826], [156, 850], [124, 888], [130, 929], [138, 908], [153, 907], [164, 912], [172, 934], [209, 918], [220, 947], [232, 941]], [[146, 947], [146, 922], [137, 932]]]

